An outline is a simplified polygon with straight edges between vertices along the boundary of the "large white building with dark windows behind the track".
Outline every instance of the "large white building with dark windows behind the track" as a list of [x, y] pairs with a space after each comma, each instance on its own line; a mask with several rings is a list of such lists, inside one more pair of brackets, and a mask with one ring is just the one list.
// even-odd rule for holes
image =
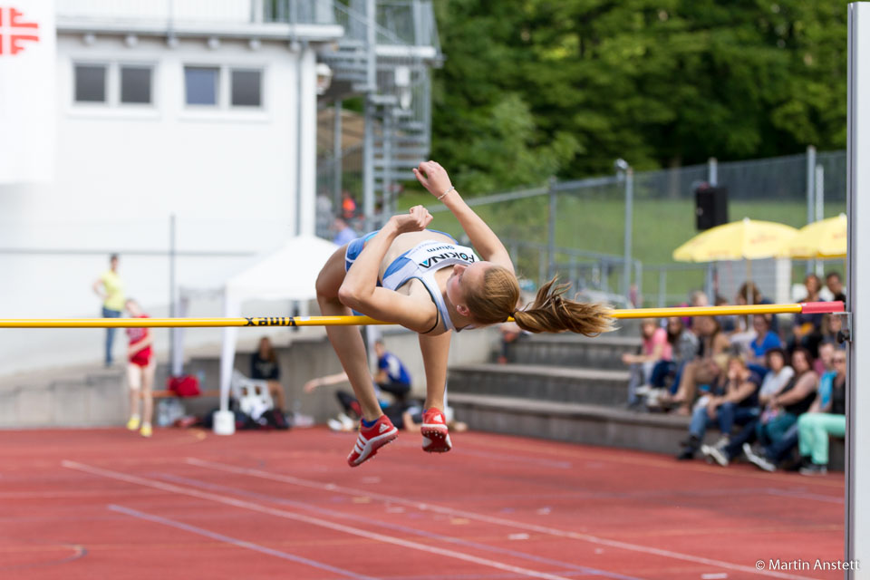
[[[44, 4], [19, 3], [18, 21]], [[41, 183], [0, 180], [0, 316], [98, 315], [92, 283], [110, 252], [128, 295], [165, 314], [170, 215], [178, 285], [224, 279], [314, 232], [315, 52], [344, 28], [323, 0], [291, 3], [295, 24], [270, 22], [265, 7], [280, 4], [57, 0], [53, 79], [41, 85], [54, 85], [55, 137], [45, 132], [41, 153], [53, 163]], [[43, 42], [52, 33], [38, 30]], [[0, 37], [0, 59], [9, 47]], [[0, 141], [14, 137], [4, 119]], [[96, 362], [101, 335], [0, 331], [0, 372]]]

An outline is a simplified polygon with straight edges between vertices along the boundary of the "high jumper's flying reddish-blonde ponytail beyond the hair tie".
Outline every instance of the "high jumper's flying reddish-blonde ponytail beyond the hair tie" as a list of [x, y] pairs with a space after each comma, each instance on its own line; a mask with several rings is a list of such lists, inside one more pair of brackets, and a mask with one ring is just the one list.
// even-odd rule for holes
[[614, 330], [610, 309], [604, 304], [577, 302], [563, 296], [571, 285], [556, 285], [556, 277], [542, 285], [535, 302], [517, 310], [517, 326], [530, 333], [572, 333], [597, 336]]

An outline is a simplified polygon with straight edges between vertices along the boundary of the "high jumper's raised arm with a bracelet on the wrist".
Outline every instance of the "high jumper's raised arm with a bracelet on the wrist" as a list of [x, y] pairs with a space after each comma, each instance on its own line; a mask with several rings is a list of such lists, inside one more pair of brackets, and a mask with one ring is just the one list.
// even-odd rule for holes
[[440, 201], [456, 216], [459, 225], [469, 235], [471, 245], [483, 259], [498, 264], [498, 266], [504, 266], [511, 272], [514, 271], [510, 254], [507, 253], [504, 244], [501, 243], [501, 240], [487, 223], [474, 213], [473, 209], [469, 208], [459, 192], [453, 188], [447, 170], [435, 161], [424, 161], [417, 169], [414, 169], [414, 177], [433, 196], [440, 198]]

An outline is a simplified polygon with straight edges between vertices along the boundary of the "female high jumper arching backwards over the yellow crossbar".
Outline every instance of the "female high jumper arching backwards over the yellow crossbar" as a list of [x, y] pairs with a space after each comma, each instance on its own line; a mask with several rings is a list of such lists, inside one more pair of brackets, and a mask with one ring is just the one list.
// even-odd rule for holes
[[[441, 453], [452, 447], [443, 414], [450, 331], [499, 324], [513, 316], [532, 333], [566, 330], [593, 336], [610, 330], [612, 321], [602, 304], [565, 298], [567, 285], [555, 285], [555, 278], [541, 286], [534, 303], [517, 310], [517, 276], [498, 237], [463, 201], [438, 163], [420, 163], [413, 171], [459, 220], [479, 254], [448, 234], [426, 229], [432, 217], [417, 206], [339, 248], [317, 278], [317, 301], [324, 315], [350, 315], [353, 309], [418, 333], [426, 372], [423, 450]], [[327, 326], [326, 333], [362, 407], [359, 437], [347, 458], [355, 467], [394, 440], [398, 430], [375, 397], [360, 331]]]

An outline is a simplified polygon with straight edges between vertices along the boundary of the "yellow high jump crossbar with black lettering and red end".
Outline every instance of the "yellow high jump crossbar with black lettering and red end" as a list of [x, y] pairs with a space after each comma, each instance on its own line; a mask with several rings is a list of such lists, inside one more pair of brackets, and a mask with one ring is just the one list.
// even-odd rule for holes
[[[685, 306], [614, 310], [616, 319], [745, 314], [824, 314], [843, 312], [842, 302], [757, 304], [752, 306]], [[512, 319], [508, 319], [512, 320]], [[0, 328], [222, 328], [227, 326], [354, 326], [392, 324], [369, 316], [245, 316], [241, 318], [6, 318]]]

